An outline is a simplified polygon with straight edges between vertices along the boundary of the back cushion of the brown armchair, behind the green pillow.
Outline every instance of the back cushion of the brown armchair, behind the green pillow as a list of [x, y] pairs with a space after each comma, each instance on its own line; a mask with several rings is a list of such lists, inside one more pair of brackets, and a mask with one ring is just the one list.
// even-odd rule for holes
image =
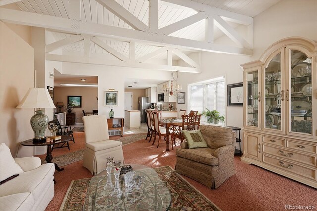
[[220, 148], [233, 143], [233, 134], [230, 127], [201, 125], [200, 130], [210, 148]]

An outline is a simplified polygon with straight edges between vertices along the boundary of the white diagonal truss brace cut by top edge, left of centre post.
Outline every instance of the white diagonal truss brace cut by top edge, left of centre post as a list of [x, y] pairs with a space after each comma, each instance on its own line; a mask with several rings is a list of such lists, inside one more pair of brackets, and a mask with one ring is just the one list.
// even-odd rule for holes
[[114, 0], [96, 0], [102, 6], [106, 7], [110, 12], [118, 16], [124, 22], [129, 24], [132, 28], [136, 30], [148, 30], [149, 27], [142, 23], [137, 17], [132, 15], [128, 10], [123, 8], [120, 4]]

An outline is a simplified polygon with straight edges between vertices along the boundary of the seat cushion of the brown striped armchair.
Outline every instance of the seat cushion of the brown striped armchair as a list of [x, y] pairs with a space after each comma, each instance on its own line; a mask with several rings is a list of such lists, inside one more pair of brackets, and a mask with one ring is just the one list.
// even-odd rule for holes
[[199, 149], [177, 149], [176, 156], [187, 158], [206, 165], [217, 166], [218, 158], [214, 157], [215, 149], [199, 148]]

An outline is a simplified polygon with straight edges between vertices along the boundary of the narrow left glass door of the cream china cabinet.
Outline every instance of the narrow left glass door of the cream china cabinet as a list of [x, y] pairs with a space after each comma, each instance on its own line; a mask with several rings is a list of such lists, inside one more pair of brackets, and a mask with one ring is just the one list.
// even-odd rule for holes
[[246, 125], [259, 127], [259, 99], [260, 99], [260, 89], [259, 89], [259, 70], [248, 71], [247, 72], [247, 118]]

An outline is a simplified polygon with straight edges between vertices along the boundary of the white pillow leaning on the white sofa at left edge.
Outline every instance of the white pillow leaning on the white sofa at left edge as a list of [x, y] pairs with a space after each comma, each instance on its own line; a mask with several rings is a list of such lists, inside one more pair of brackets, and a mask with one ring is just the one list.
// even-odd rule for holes
[[0, 145], [0, 181], [20, 173], [23, 173], [23, 169], [15, 163], [9, 147], [2, 143]]

